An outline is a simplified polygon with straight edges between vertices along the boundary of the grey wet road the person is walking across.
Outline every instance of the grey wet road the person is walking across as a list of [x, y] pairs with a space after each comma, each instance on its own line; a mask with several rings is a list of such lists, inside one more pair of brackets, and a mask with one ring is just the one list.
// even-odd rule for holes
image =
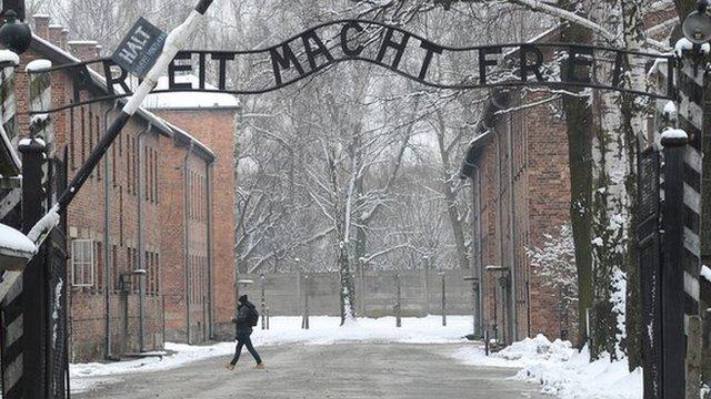
[[239, 399], [542, 399], [539, 387], [507, 379], [512, 369], [462, 366], [442, 355], [459, 346], [342, 344], [261, 349], [267, 370], [247, 355], [233, 372], [227, 358], [180, 369], [118, 376], [74, 398]]

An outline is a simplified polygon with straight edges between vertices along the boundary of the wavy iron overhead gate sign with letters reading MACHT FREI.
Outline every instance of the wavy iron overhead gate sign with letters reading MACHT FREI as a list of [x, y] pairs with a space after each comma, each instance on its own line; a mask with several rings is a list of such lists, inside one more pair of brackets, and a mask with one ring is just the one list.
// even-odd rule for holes
[[[38, 112], [56, 112], [91, 102], [126, 98], [137, 85], [129, 73], [142, 76], [152, 60], [151, 51], [159, 49], [157, 31], [148, 21], [121, 43], [111, 59], [64, 64], [39, 71], [73, 69], [74, 102], [70, 105]], [[152, 25], [150, 25], [152, 27]], [[158, 31], [159, 32], [159, 31]], [[150, 38], [150, 39], [149, 39]], [[158, 35], [160, 38], [160, 35]], [[447, 55], [448, 62], [434, 62]], [[181, 51], [169, 65], [168, 88], [159, 92], [220, 92], [260, 94], [274, 91], [344, 61], [361, 61], [380, 65], [421, 84], [451, 90], [480, 88], [511, 88], [541, 85], [553, 89], [570, 86], [614, 90], [655, 99], [673, 99], [670, 85], [659, 92], [655, 88], [628, 89], [622, 84], [624, 64], [634, 55], [645, 64], [663, 61], [669, 75], [674, 73], [673, 54], [648, 53], [621, 49], [571, 43], [510, 43], [455, 48], [427, 40], [399, 27], [367, 20], [338, 20], [311, 28], [283, 42], [263, 49], [243, 51]], [[91, 90], [97, 82], [86, 79], [87, 65], [101, 63], [107, 78], [107, 96], [81, 101], [81, 91]], [[236, 65], [258, 71], [247, 82], [230, 82], [228, 71]], [[455, 66], [452, 66], [455, 65]], [[589, 79], [589, 70], [608, 71], [598, 81]], [[82, 72], [83, 73], [80, 73]], [[192, 73], [197, 82], [177, 80], [180, 73]], [[217, 76], [210, 85], [208, 75]], [[83, 76], [83, 78], [82, 78]], [[103, 82], [101, 82], [103, 84]]]

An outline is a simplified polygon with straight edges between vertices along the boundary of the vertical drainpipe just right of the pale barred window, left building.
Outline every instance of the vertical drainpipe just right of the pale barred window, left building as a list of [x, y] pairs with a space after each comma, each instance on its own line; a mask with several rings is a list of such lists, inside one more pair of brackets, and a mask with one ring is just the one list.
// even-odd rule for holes
[[[103, 113], [103, 131], [109, 130], [109, 113], [111, 111], [117, 110], [119, 106], [118, 102], [113, 103], [113, 106], [107, 109]], [[104, 299], [104, 313], [106, 313], [106, 323], [104, 323], [104, 339], [103, 339], [103, 358], [107, 360], [113, 359], [111, 355], [111, 267], [113, 266], [113, 259], [109, 259], [110, 248], [109, 248], [109, 235], [111, 229], [111, 217], [110, 217], [110, 198], [111, 198], [111, 176], [113, 175], [113, 171], [109, 171], [109, 154], [103, 157], [103, 269], [106, 273], [103, 274], [103, 299]]]

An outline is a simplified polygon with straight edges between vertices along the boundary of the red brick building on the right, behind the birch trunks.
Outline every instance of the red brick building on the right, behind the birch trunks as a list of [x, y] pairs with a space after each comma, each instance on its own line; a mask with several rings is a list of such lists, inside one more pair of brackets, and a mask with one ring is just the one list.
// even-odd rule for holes
[[[655, 4], [645, 19], [649, 35], [668, 38], [678, 23], [674, 16], [672, 3]], [[560, 42], [560, 31], [531, 42]], [[547, 62], [554, 57], [550, 51], [543, 51]], [[481, 276], [481, 323], [490, 337], [505, 342], [537, 334], [565, 339], [577, 334], [577, 311], [559, 307], [560, 293], [543, 284], [527, 255], [527, 248], [541, 247], [547, 234], [557, 235], [570, 223], [562, 100], [548, 99], [545, 90], [492, 91], [468, 157], [473, 164], [472, 255]]]

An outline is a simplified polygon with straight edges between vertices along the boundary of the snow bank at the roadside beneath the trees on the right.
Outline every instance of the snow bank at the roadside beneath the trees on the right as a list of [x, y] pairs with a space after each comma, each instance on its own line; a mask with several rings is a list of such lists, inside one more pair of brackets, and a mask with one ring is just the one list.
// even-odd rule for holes
[[484, 356], [481, 348], [463, 347], [452, 357], [467, 365], [519, 369], [515, 379], [542, 386], [545, 393], [563, 399], [641, 399], [642, 372], [628, 372], [627, 360], [590, 362], [588, 349], [581, 352], [570, 342], [549, 341], [539, 335], [494, 354]]

